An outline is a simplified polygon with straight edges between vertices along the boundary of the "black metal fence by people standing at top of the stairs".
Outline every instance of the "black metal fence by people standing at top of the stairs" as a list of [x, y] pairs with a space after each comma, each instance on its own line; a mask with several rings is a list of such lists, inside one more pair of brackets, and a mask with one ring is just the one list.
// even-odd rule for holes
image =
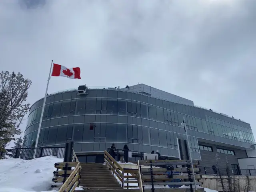
[[138, 163], [138, 160], [143, 160], [143, 156], [144, 156], [143, 152], [123, 150], [123, 149], [112, 149], [112, 148], [108, 148], [108, 153], [117, 162]]

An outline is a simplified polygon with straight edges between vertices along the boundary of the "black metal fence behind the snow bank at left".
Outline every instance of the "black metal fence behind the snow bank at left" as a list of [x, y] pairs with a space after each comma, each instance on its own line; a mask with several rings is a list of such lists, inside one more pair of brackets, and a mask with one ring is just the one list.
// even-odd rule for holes
[[14, 148], [7, 149], [6, 152], [0, 153], [0, 158], [20, 158], [24, 160], [33, 159], [36, 150], [35, 158], [44, 156], [56, 156], [57, 158], [64, 158], [65, 147], [38, 147], [38, 148]]

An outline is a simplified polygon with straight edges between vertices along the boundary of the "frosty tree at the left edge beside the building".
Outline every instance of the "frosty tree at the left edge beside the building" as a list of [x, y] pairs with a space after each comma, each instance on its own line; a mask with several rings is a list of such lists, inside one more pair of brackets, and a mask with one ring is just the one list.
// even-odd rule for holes
[[21, 134], [19, 128], [30, 104], [24, 104], [28, 97], [31, 81], [22, 74], [0, 73], [0, 152]]

